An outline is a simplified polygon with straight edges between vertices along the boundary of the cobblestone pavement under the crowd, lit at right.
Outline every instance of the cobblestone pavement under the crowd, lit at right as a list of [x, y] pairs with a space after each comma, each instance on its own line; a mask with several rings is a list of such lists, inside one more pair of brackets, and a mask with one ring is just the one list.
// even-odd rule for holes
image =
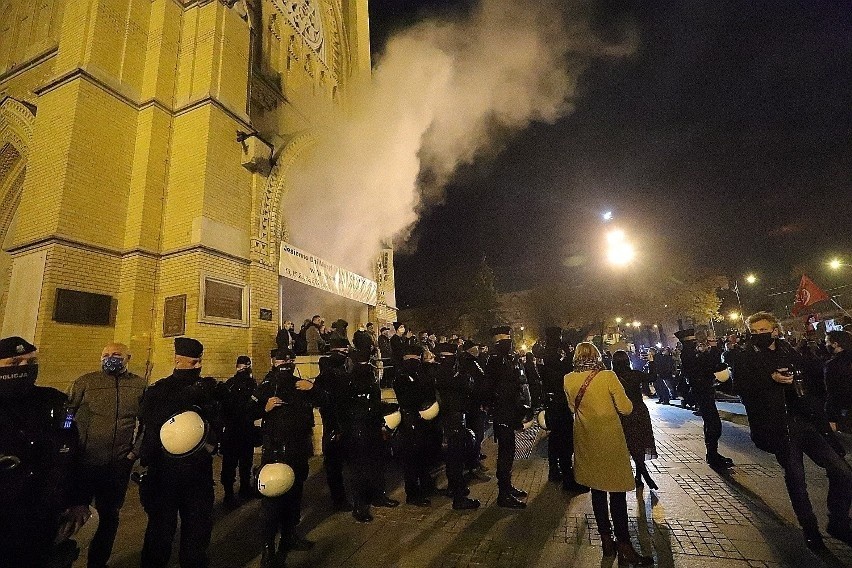
[[[677, 406], [649, 401], [660, 458], [650, 462], [660, 486], [628, 494], [634, 542], [653, 554], [657, 566], [758, 567], [852, 566], [852, 549], [827, 538], [831, 554], [818, 558], [804, 546], [780, 468], [754, 448], [748, 429], [724, 423], [720, 451], [737, 463], [720, 476], [703, 461], [700, 418]], [[484, 448], [493, 472], [495, 448]], [[495, 505], [496, 483], [471, 485], [478, 511], [456, 512], [446, 497], [430, 508], [405, 504], [375, 509], [376, 520], [358, 524], [346, 513], [330, 513], [320, 461], [311, 464], [301, 530], [316, 541], [310, 552], [294, 552], [287, 566], [324, 567], [562, 567], [612, 566], [601, 560], [588, 495], [569, 496], [547, 481], [547, 438], [527, 431], [519, 442], [515, 485], [529, 491], [528, 508], [513, 512]], [[824, 526], [827, 482], [808, 464], [808, 487]], [[319, 475], [317, 475], [319, 473]], [[404, 501], [394, 467], [389, 486]], [[218, 477], [218, 462], [217, 474]], [[445, 484], [443, 477], [439, 485]], [[389, 487], [390, 488], [390, 487]], [[139, 564], [146, 518], [131, 486], [112, 566]], [[214, 567], [257, 566], [261, 548], [258, 501], [236, 509], [221, 505], [217, 487], [216, 526], [210, 548]], [[177, 561], [177, 550], [173, 556]], [[78, 562], [78, 566], [84, 566]]]

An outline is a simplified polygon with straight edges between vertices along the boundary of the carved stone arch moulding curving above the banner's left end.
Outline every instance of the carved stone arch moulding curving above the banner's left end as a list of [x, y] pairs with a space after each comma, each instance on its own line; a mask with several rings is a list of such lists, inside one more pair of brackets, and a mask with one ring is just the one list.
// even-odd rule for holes
[[286, 230], [281, 200], [290, 189], [293, 165], [316, 141], [317, 135], [312, 131], [295, 135], [281, 150], [266, 180], [260, 199], [257, 233], [252, 239], [252, 260], [269, 270], [277, 270], [278, 244]]

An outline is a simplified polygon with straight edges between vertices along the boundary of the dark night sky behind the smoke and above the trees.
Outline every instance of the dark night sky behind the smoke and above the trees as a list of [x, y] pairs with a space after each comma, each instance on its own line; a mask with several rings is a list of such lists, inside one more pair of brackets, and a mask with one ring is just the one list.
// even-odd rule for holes
[[[531, 0], [534, 1], [534, 0]], [[394, 30], [470, 1], [372, 0], [374, 58]], [[772, 287], [807, 270], [852, 283], [852, 10], [848, 2], [600, 2], [636, 52], [583, 75], [576, 111], [458, 172], [396, 258], [400, 307], [483, 256], [502, 291], [579, 277], [614, 211], [648, 255]]]

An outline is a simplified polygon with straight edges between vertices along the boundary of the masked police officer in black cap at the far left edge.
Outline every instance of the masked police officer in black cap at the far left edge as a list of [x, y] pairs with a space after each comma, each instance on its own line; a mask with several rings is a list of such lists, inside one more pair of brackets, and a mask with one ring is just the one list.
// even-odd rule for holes
[[0, 564], [70, 568], [79, 551], [68, 539], [93, 521], [78, 485], [68, 399], [35, 386], [36, 357], [35, 346], [20, 337], [0, 340]]

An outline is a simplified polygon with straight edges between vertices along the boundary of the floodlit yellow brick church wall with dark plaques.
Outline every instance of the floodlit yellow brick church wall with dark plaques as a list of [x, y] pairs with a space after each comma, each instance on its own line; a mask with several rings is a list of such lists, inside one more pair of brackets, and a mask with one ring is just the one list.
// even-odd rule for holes
[[41, 384], [112, 340], [151, 380], [178, 334], [205, 374], [268, 361], [288, 169], [369, 79], [367, 2], [231, 3], [0, 0], [0, 319]]

